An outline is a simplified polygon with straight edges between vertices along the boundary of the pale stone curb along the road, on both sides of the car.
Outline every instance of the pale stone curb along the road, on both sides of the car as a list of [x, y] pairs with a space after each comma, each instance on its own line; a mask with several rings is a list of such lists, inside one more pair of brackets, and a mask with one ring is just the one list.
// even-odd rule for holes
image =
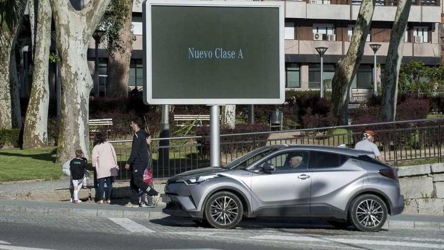
[[[26, 214], [26, 215], [82, 215], [86, 217], [113, 217], [128, 219], [156, 220], [170, 217], [159, 211], [128, 211], [128, 210], [102, 210], [81, 208], [46, 208], [46, 207], [23, 207], [23, 206], [1, 206], [3, 213]], [[304, 224], [297, 224], [304, 226]], [[313, 224], [311, 224], [313, 225]], [[408, 230], [437, 230], [444, 231], [444, 223], [427, 221], [387, 220], [382, 229], [408, 229]]]

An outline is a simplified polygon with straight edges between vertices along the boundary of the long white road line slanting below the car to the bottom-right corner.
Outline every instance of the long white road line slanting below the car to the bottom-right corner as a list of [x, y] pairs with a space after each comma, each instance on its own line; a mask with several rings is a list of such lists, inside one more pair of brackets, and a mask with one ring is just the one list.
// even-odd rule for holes
[[423, 247], [444, 249], [443, 244], [431, 244], [423, 242], [407, 242], [407, 241], [388, 241], [388, 240], [367, 240], [367, 239], [345, 239], [336, 237], [310, 237], [310, 236], [285, 236], [285, 235], [258, 235], [252, 236], [250, 239], [274, 239], [289, 241], [311, 241], [322, 243], [343, 243], [343, 244], [366, 244], [366, 245], [384, 245], [384, 246], [406, 246], [406, 247]]

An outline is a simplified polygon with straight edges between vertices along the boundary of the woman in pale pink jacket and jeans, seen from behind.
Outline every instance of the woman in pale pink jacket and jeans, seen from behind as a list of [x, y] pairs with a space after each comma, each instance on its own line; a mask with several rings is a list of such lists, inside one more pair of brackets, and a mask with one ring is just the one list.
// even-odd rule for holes
[[94, 148], [92, 149], [92, 166], [97, 172], [98, 204], [103, 204], [103, 190], [106, 182], [106, 201], [111, 202], [113, 194], [112, 177], [117, 176], [119, 165], [117, 165], [116, 151], [111, 143], [105, 141], [105, 135], [98, 133], [94, 136]]

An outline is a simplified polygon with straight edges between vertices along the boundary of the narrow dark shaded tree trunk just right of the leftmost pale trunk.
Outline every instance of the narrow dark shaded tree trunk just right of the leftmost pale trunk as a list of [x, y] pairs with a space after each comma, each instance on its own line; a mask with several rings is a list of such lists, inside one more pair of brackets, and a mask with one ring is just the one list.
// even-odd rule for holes
[[[17, 39], [15, 39], [17, 40]], [[17, 64], [16, 64], [16, 53], [15, 53], [15, 43], [11, 49], [11, 57], [10, 57], [10, 87], [11, 87], [11, 118], [12, 118], [12, 127], [13, 128], [22, 128], [22, 112], [20, 109], [20, 82], [17, 77]], [[25, 76], [26, 77], [26, 76]]]

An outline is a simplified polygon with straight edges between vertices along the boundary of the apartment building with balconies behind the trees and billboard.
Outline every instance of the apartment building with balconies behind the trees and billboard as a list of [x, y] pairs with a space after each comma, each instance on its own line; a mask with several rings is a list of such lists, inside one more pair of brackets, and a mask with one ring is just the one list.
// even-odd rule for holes
[[[422, 61], [437, 65], [441, 59], [440, 0], [413, 0], [404, 44], [403, 62]], [[89, 0], [71, 0], [74, 8], [82, 9]], [[316, 47], [327, 47], [324, 55], [324, 79], [331, 79], [335, 64], [346, 55], [354, 32], [361, 0], [285, 1], [285, 65], [286, 87], [301, 90], [320, 88], [320, 57]], [[395, 19], [396, 0], [377, 0], [364, 56], [353, 81], [353, 92], [371, 92], [373, 84], [373, 51], [369, 44], [378, 43], [377, 80], [383, 72], [390, 34]], [[142, 1], [133, 4], [133, 52], [130, 61], [129, 86], [143, 86], [142, 62]], [[173, 39], [173, 38], [172, 38]], [[53, 46], [52, 46], [53, 47]], [[54, 47], [53, 47], [54, 48]], [[95, 41], [90, 40], [88, 63], [94, 75]], [[106, 95], [107, 52], [98, 49], [98, 90]], [[380, 67], [379, 67], [380, 66]], [[53, 72], [51, 70], [51, 72]], [[53, 86], [53, 81], [50, 85]], [[97, 88], [97, 85], [95, 85]], [[96, 91], [96, 89], [94, 90]], [[51, 87], [51, 93], [53, 93]]]

